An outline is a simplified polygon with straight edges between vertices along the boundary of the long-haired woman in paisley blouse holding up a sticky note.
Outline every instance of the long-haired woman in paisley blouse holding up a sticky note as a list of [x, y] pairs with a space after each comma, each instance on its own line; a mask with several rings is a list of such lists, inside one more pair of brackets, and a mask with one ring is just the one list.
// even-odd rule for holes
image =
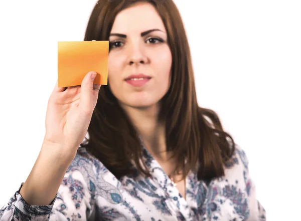
[[110, 42], [109, 85], [89, 72], [55, 87], [41, 152], [0, 220], [265, 220], [244, 151], [198, 107], [172, 0], [99, 1], [92, 40]]

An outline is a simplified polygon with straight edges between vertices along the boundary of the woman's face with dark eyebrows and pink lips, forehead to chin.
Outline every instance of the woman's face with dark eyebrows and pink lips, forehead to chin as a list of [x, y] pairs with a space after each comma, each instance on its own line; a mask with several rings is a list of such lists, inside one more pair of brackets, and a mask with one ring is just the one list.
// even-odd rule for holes
[[172, 54], [155, 8], [138, 3], [115, 18], [109, 37], [108, 80], [121, 105], [150, 107], [170, 87]]

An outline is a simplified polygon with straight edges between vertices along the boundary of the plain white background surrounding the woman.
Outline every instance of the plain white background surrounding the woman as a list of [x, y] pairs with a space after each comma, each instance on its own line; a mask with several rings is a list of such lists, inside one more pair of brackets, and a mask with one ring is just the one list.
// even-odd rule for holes
[[[175, 1], [199, 104], [246, 151], [268, 220], [299, 218], [299, 1]], [[45, 134], [57, 41], [82, 41], [95, 0], [1, 1], [0, 207], [25, 181]]]

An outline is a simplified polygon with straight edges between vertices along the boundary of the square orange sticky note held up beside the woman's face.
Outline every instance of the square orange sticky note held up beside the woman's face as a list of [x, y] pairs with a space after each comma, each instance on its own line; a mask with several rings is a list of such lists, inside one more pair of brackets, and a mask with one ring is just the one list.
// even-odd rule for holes
[[58, 42], [58, 86], [81, 85], [89, 71], [98, 73], [94, 84], [107, 85], [108, 41]]

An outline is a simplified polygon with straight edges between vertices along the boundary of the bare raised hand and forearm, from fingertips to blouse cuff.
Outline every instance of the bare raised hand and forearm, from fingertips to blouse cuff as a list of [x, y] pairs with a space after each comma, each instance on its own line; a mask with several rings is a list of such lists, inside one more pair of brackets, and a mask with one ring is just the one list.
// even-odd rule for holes
[[20, 190], [28, 205], [49, 205], [53, 201], [85, 138], [100, 88], [100, 85], [93, 85], [93, 73], [96, 74], [89, 72], [80, 86], [66, 90], [57, 83], [50, 95], [43, 145]]

